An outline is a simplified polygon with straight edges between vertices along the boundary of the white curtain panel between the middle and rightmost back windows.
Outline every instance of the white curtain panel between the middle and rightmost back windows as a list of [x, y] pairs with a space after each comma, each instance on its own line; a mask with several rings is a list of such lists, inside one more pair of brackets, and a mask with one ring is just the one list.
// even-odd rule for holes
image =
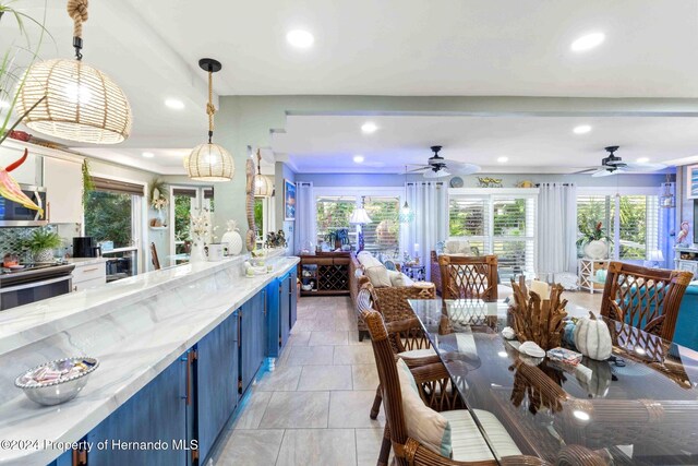
[[577, 187], [543, 183], [538, 195], [538, 276], [577, 273]]

